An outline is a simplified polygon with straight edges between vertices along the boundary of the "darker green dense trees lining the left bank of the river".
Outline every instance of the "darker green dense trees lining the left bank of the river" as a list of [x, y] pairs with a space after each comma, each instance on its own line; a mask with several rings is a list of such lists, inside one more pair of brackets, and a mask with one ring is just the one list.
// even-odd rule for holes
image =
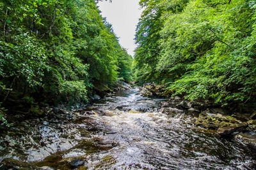
[[94, 0], [3, 0], [0, 11], [3, 105], [86, 101], [131, 80], [132, 58]]

